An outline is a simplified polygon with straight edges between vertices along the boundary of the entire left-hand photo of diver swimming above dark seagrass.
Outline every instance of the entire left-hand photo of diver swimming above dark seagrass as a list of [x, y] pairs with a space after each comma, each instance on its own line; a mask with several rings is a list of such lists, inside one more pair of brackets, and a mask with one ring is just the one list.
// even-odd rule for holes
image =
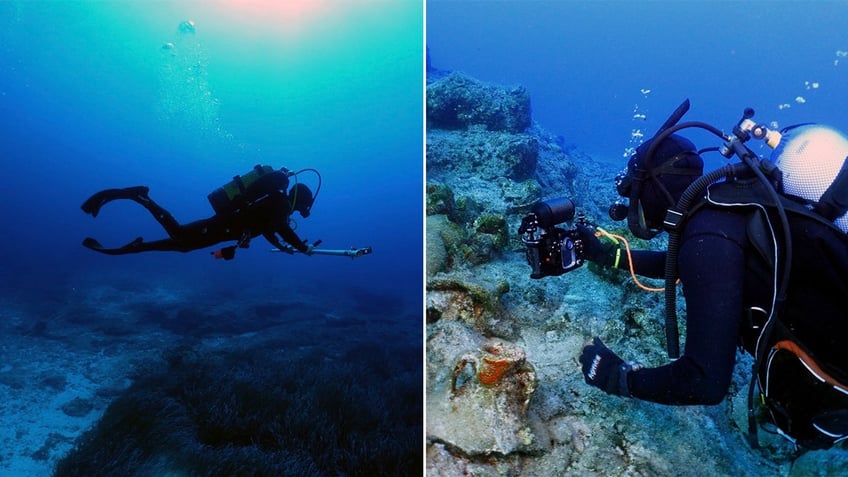
[[422, 17], [0, 4], [0, 474], [422, 473]]

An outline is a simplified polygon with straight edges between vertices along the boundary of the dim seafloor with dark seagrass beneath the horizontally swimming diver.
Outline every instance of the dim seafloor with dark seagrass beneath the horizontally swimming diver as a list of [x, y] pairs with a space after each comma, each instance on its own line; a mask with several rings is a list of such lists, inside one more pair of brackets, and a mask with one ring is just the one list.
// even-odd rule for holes
[[0, 293], [0, 475], [420, 472], [420, 308], [81, 270]]

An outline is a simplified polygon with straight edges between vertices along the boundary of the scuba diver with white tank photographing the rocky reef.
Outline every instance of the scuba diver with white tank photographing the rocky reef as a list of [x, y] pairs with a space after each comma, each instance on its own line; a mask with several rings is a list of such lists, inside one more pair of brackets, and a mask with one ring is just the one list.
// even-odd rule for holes
[[[585, 381], [661, 404], [718, 404], [741, 346], [755, 357], [751, 445], [758, 445], [756, 380], [779, 434], [796, 445], [828, 448], [848, 438], [848, 138], [818, 124], [780, 134], [762, 125], [752, 131], [752, 110], [735, 136], [700, 122], [675, 126], [687, 109], [688, 100], [637, 148], [616, 178], [629, 204], [610, 209], [639, 238], [669, 231], [668, 251], [625, 254], [619, 244], [601, 241], [594, 227], [575, 227], [586, 260], [666, 277], [671, 358], [679, 353], [673, 301], [679, 278], [686, 299], [683, 353], [647, 368], [595, 337], [579, 358]], [[676, 134], [687, 127], [719, 135], [728, 141], [722, 154], [743, 163], [703, 175], [704, 151]], [[744, 146], [752, 134], [774, 147], [769, 160]]]

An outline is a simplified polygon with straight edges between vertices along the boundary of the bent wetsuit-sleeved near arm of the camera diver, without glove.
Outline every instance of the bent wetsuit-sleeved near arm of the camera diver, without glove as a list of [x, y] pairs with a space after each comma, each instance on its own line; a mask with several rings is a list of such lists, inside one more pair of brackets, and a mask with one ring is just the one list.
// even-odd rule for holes
[[743, 305], [744, 250], [721, 232], [688, 238], [680, 250], [686, 295], [684, 353], [668, 365], [631, 372], [628, 389], [635, 398], [663, 404], [717, 404], [730, 386]]

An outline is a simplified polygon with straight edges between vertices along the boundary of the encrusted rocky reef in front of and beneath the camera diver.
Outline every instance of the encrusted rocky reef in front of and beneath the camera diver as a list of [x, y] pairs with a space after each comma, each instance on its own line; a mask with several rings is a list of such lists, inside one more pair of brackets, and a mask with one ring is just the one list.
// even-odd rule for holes
[[535, 124], [528, 91], [428, 72], [426, 147], [428, 475], [848, 475], [842, 448], [799, 452], [763, 431], [748, 445], [747, 355], [716, 406], [584, 383], [577, 357], [595, 335], [626, 360], [666, 362], [663, 299], [593, 266], [530, 279], [517, 229], [536, 201], [569, 197], [625, 231], [606, 214], [620, 166]]

